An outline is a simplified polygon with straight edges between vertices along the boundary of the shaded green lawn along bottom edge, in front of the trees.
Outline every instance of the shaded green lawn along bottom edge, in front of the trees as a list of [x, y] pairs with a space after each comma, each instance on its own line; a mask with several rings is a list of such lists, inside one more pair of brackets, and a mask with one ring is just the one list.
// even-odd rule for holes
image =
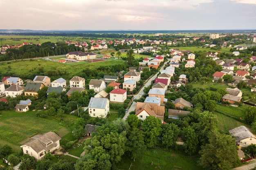
[[[153, 161], [153, 166], [150, 165], [151, 161]], [[196, 157], [187, 157], [172, 151], [147, 149], [135, 162], [128, 155], [124, 155], [117, 168], [128, 170], [132, 163], [130, 170], [203, 170], [197, 165], [197, 161]]]

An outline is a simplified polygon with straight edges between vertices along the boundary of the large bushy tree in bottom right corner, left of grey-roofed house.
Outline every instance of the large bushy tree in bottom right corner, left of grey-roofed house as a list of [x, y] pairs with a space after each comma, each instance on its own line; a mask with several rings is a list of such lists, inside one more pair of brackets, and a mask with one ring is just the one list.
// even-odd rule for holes
[[239, 158], [236, 151], [236, 142], [231, 135], [215, 132], [209, 135], [209, 143], [202, 146], [199, 154], [199, 163], [209, 170], [230, 170], [237, 166]]

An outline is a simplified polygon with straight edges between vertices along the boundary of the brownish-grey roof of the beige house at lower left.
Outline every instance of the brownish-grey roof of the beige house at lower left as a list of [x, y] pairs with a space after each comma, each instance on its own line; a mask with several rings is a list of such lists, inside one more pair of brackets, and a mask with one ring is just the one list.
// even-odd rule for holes
[[[31, 137], [31, 141], [22, 145], [22, 146], [29, 146], [34, 149], [36, 152], [40, 152], [42, 150], [48, 151], [56, 146], [56, 142], [61, 140], [61, 137], [56, 135], [54, 132], [47, 132], [43, 135], [35, 135]], [[51, 142], [49, 144], [49, 142]], [[47, 145], [48, 144], [48, 145]], [[20, 147], [22, 147], [20, 146]]]

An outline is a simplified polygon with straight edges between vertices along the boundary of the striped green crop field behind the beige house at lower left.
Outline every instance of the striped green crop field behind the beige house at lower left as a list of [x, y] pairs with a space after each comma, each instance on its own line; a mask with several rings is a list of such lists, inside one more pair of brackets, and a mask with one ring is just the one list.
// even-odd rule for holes
[[10, 145], [16, 152], [20, 151], [22, 144], [30, 141], [29, 137], [36, 134], [53, 131], [60, 137], [65, 136], [69, 132], [66, 127], [75, 120], [72, 115], [67, 115], [61, 124], [55, 119], [36, 117], [35, 111], [2, 111], [0, 118], [0, 146]]

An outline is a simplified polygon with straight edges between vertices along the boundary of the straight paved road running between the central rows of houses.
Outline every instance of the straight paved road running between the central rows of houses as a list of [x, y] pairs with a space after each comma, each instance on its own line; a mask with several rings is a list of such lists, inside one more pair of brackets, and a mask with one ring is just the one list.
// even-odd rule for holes
[[[168, 59], [168, 61], [165, 62], [164, 65], [167, 64], [168, 62], [170, 62], [170, 59]], [[160, 68], [160, 72], [161, 72], [162, 70], [164, 70], [164, 65]], [[157, 77], [157, 75], [158, 75], [158, 72], [157, 72], [155, 75], [153, 75], [153, 77], [151, 77], [151, 78], [144, 84], [144, 86], [140, 89], [140, 91], [139, 91], [136, 95], [134, 95], [134, 97], [136, 97], [136, 99], [139, 99], [139, 98], [142, 96], [142, 95], [140, 95], [139, 93], [144, 93], [144, 92], [143, 92], [144, 88], [150, 86], [151, 82]], [[135, 111], [135, 109], [136, 109], [136, 102], [132, 102], [130, 108], [128, 109], [128, 112], [124, 115], [123, 119], [126, 120], [126, 118], [129, 116], [129, 113], [130, 113], [131, 111]]]

